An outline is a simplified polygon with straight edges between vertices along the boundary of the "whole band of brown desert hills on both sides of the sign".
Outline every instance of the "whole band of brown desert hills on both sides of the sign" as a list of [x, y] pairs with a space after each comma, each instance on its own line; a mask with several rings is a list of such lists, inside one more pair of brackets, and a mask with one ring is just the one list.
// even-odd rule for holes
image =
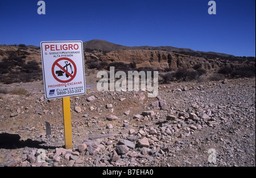
[[[104, 40], [84, 42], [84, 58], [85, 67], [89, 69], [97, 68], [100, 64], [112, 63], [125, 65], [133, 63], [137, 68], [150, 67], [159, 72], [179, 68], [193, 70], [195, 67], [215, 73], [225, 67], [232, 70], [255, 68], [255, 57], [237, 57], [174, 47], [126, 47]], [[89, 62], [96, 65], [89, 66]], [[0, 82], [5, 83], [40, 80], [42, 78], [40, 47], [24, 44], [0, 45], [0, 74]]]

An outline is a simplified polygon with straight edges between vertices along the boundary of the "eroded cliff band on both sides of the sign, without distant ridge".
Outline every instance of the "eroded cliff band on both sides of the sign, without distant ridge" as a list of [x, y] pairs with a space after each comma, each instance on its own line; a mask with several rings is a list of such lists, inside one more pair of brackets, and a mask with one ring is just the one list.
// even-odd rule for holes
[[[3, 58], [10, 56], [20, 56], [26, 61], [36, 61], [41, 67], [40, 48], [20, 48], [13, 46], [0, 45], [0, 62]], [[207, 57], [196, 57], [191, 55], [183, 55], [175, 52], [144, 50], [144, 49], [120, 49], [108, 53], [102, 52], [84, 52], [86, 60], [100, 60], [111, 62], [131, 63], [135, 62], [137, 67], [152, 67], [154, 69], [164, 68], [187, 68], [192, 69], [196, 64], [200, 64], [201, 68], [210, 71], [217, 71], [223, 67], [231, 67], [233, 69], [247, 66], [255, 66], [255, 61], [247, 60], [228, 60], [215, 57], [210, 59]]]

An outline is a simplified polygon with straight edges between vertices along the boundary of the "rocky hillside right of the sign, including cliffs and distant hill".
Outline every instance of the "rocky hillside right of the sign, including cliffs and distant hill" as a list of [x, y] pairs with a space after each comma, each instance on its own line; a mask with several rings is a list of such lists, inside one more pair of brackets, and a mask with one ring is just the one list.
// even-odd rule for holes
[[127, 47], [104, 40], [90, 40], [84, 43], [85, 59], [109, 62], [136, 63], [137, 67], [186, 68], [196, 64], [207, 70], [223, 67], [237, 69], [255, 66], [255, 57], [236, 57], [217, 52], [200, 52], [175, 47]]

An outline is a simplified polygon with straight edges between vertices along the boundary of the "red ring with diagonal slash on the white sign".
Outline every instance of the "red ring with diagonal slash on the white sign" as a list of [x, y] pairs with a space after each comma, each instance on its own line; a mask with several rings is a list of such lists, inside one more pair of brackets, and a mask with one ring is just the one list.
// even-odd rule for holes
[[[60, 64], [58, 64], [59, 61], [61, 60], [67, 60], [69, 62], [71, 62], [73, 64], [73, 67], [74, 67], [74, 73], [73, 75], [70, 74], [69, 72], [67, 72], [63, 67], [60, 66]], [[68, 80], [60, 80], [59, 78], [56, 77], [55, 75], [55, 72], [54, 72], [54, 68], [55, 68], [55, 65], [57, 65], [57, 67], [59, 67], [61, 70], [63, 70], [65, 73], [68, 74], [69, 78]], [[57, 59], [53, 64], [52, 64], [52, 76], [55, 78], [55, 80], [61, 82], [61, 83], [67, 83], [67, 82], [70, 82], [72, 81], [75, 77], [76, 77], [76, 72], [77, 72], [77, 69], [76, 69], [76, 64], [74, 63], [74, 61], [72, 61], [71, 59], [69, 59], [68, 57], [61, 57], [59, 59]]]

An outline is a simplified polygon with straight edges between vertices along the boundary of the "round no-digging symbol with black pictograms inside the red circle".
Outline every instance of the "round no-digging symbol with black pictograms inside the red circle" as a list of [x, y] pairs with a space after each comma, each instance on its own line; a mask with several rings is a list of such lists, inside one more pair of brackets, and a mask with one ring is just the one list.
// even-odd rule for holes
[[[60, 62], [63, 63], [63, 61], [65, 65], [61, 66], [59, 63]], [[73, 67], [71, 64], [73, 65]], [[55, 71], [56, 68], [60, 68], [60, 70]], [[72, 81], [76, 77], [76, 72], [77, 72], [76, 64], [74, 63], [74, 61], [72, 61], [68, 57], [61, 57], [60, 59], [57, 59], [52, 64], [52, 76], [55, 78], [55, 80], [61, 83], [67, 83]], [[67, 80], [60, 80], [60, 78], [58, 78], [60, 76], [64, 76], [64, 78], [67, 78]]]

